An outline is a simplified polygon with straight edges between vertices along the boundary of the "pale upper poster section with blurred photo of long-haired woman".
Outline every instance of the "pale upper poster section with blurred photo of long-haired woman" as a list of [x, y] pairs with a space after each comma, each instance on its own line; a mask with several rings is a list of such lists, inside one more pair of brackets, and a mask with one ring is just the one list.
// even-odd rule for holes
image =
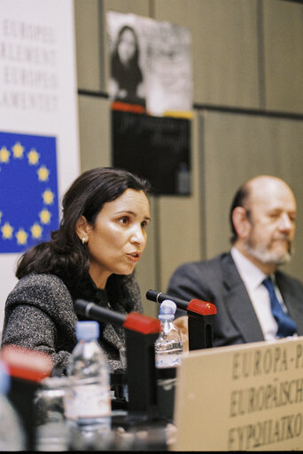
[[190, 30], [113, 11], [106, 20], [110, 98], [143, 105], [150, 115], [190, 111]]

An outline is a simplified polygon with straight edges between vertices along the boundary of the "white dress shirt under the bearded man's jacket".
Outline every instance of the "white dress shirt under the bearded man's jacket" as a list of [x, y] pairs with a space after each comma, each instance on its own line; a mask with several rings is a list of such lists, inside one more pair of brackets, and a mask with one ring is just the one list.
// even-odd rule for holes
[[[241, 276], [246, 291], [252, 301], [254, 312], [256, 313], [261, 330], [263, 331], [265, 340], [276, 339], [277, 323], [271, 313], [269, 293], [267, 288], [262, 284], [263, 279], [268, 277], [260, 270], [260, 268], [253, 265], [251, 260], [241, 254], [237, 248], [231, 248], [231, 256], [237, 267], [237, 271]], [[274, 275], [270, 275], [274, 288], [276, 291], [276, 298], [279, 300], [284, 312], [287, 312], [284, 305], [281, 293], [276, 286]]]

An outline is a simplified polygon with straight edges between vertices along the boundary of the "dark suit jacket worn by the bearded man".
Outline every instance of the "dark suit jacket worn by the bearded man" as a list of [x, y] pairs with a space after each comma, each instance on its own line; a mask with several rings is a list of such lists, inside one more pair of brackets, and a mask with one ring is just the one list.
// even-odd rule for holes
[[[276, 284], [302, 336], [303, 285], [281, 271], [276, 272]], [[202, 299], [216, 306], [213, 346], [264, 340], [253, 304], [230, 253], [178, 267], [170, 279], [167, 294], [187, 301]]]

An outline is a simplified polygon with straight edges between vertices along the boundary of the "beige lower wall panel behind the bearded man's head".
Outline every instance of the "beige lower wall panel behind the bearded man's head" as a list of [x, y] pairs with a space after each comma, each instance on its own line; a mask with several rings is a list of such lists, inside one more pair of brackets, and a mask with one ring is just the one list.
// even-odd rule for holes
[[202, 118], [206, 257], [229, 250], [229, 206], [237, 188], [256, 175], [275, 175], [297, 197], [297, 252], [287, 268], [303, 279], [303, 121], [209, 113]]

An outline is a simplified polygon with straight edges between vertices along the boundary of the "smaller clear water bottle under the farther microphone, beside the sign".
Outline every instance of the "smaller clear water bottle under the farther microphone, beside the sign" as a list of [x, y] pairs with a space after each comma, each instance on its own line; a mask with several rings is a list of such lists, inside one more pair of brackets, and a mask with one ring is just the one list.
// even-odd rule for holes
[[175, 327], [175, 303], [165, 299], [159, 307], [161, 332], [155, 343], [156, 367], [172, 368], [180, 364], [183, 343], [180, 331]]

